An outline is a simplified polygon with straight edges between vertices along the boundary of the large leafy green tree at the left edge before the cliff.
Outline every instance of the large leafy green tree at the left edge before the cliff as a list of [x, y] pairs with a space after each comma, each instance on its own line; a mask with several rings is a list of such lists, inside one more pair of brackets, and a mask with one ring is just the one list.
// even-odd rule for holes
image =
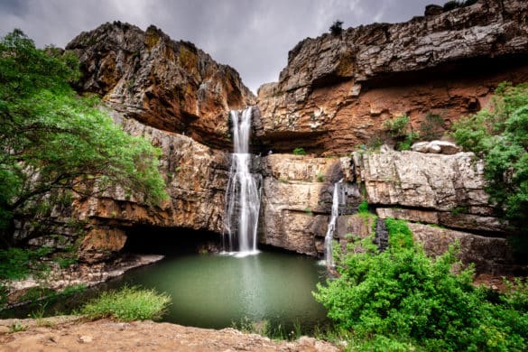
[[[0, 234], [13, 244], [13, 219], [51, 196], [97, 195], [119, 185], [149, 204], [164, 197], [160, 151], [125, 134], [99, 105], [79, 97], [72, 54], [35, 48], [14, 30], [0, 40]], [[51, 204], [52, 206], [52, 204]]]

